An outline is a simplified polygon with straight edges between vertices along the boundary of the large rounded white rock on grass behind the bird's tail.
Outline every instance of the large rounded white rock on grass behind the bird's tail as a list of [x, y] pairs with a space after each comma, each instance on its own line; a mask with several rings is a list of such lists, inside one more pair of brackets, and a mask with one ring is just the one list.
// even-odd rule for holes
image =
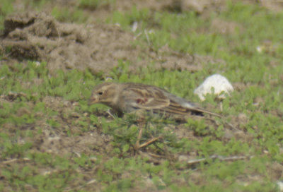
[[[212, 88], [214, 88], [214, 92], [212, 92]], [[200, 97], [200, 100], [205, 100], [205, 95], [214, 93], [218, 95], [219, 99], [225, 98], [225, 93], [229, 95], [229, 93], [233, 92], [233, 86], [224, 76], [219, 74], [214, 74], [209, 76], [204, 80], [204, 83], [197, 87], [194, 91], [196, 95]]]

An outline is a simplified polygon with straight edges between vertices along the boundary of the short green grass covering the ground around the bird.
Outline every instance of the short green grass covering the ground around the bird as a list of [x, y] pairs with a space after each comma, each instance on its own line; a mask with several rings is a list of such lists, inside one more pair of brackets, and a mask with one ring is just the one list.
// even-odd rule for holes
[[[1, 6], [1, 23], [8, 13], [13, 13], [13, 2], [9, 2], [3, 1]], [[40, 2], [37, 4], [41, 6], [34, 6], [47, 4]], [[71, 11], [54, 6], [52, 15], [65, 22], [86, 22], [91, 17], [86, 7], [96, 9], [105, 4], [80, 1]], [[144, 127], [141, 143], [162, 136], [144, 151], [168, 155], [158, 163], [132, 148], [139, 132], [135, 116], [110, 120], [99, 115], [108, 107], [88, 106], [91, 88], [103, 81], [103, 74], [93, 76], [89, 71], [72, 70], [50, 76], [45, 62], [35, 61], [1, 65], [0, 95], [4, 99], [0, 101], [0, 191], [278, 191], [276, 182], [283, 179], [282, 173], [276, 179], [272, 173], [275, 164], [283, 162], [282, 17], [282, 13], [271, 13], [257, 5], [231, 2], [224, 11], [210, 13], [207, 18], [192, 11], [170, 13], [149, 8], [113, 11], [108, 16], [107, 23], [119, 23], [127, 31], [137, 21], [139, 27], [134, 34], [141, 35], [134, 44], [146, 46], [144, 42], [149, 40], [147, 46], [154, 52], [167, 44], [176, 52], [226, 62], [206, 64], [203, 71], [195, 73], [149, 67], [132, 74], [128, 73], [131, 63], [119, 61], [108, 76], [113, 81], [156, 85], [193, 102], [200, 102], [193, 89], [210, 74], [221, 73], [231, 82], [244, 85], [223, 101], [221, 114], [233, 122], [244, 114], [247, 121], [238, 123], [247, 136], [235, 134], [227, 138], [224, 124], [215, 126], [188, 119], [179, 126], [170, 119], [148, 117], [151, 124]], [[223, 34], [215, 30], [211, 26], [216, 19], [236, 23], [236, 31]], [[258, 46], [263, 47], [263, 52], [257, 51]], [[202, 104], [210, 104], [219, 112], [214, 98], [209, 95]], [[110, 136], [105, 146], [86, 144], [79, 150], [76, 143], [71, 143], [95, 133], [99, 133], [98, 138]], [[54, 152], [52, 146], [61, 145], [57, 140], [69, 151]], [[64, 143], [67, 140], [71, 144]], [[50, 142], [45, 151], [39, 148], [42, 142]], [[190, 166], [178, 161], [182, 155], [207, 160]], [[211, 155], [253, 158], [222, 162], [212, 160]]]

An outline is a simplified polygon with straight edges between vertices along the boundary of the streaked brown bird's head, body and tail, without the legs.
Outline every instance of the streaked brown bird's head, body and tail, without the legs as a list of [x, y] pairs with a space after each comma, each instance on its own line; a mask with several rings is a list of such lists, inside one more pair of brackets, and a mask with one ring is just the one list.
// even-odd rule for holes
[[103, 83], [97, 85], [89, 100], [89, 104], [95, 103], [105, 104], [122, 113], [142, 110], [178, 116], [202, 113], [220, 116], [162, 88], [139, 83]]

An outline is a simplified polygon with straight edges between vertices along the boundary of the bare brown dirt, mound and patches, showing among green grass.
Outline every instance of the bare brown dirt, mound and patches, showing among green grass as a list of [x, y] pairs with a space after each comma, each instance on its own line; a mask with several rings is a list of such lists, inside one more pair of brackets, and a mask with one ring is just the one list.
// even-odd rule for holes
[[[59, 1], [62, 4], [74, 4], [75, 1]], [[255, 3], [255, 1], [246, 1], [247, 3]], [[93, 16], [105, 18], [113, 9], [119, 11], [127, 11], [132, 6], [137, 8], [148, 7], [154, 10], [179, 10], [185, 11], [187, 9], [194, 9], [200, 12], [201, 15], [206, 16], [207, 11], [216, 11], [222, 8], [224, 1], [120, 1], [117, 0], [116, 7], [100, 7], [92, 11]], [[262, 6], [277, 11], [278, 7], [282, 7], [281, 1], [260, 1]], [[212, 23], [212, 28], [219, 32], [233, 32], [235, 23], [225, 23], [221, 20], [215, 20]], [[168, 47], [163, 47], [158, 52], [153, 52], [151, 49], [134, 46], [132, 42], [137, 37], [131, 32], [123, 31], [118, 25], [76, 25], [70, 23], [60, 23], [54, 20], [52, 16], [46, 13], [18, 13], [8, 16], [5, 20], [5, 30], [2, 32], [0, 38], [0, 51], [11, 49], [11, 52], [6, 54], [4, 59], [0, 61], [1, 64], [13, 65], [15, 61], [27, 62], [28, 60], [47, 61], [47, 67], [50, 73], [56, 73], [57, 69], [70, 70], [89, 69], [93, 74], [103, 71], [107, 76], [108, 71], [117, 66], [118, 60], [130, 61], [130, 68], [132, 73], [137, 73], [139, 67], [148, 66], [151, 61], [155, 61], [156, 66], [154, 70], [166, 68], [168, 70], [187, 70], [199, 71], [202, 70], [202, 64], [206, 63], [220, 63], [225, 65], [224, 61], [219, 61], [209, 56], [189, 55], [173, 52]], [[238, 90], [245, 88], [245, 85], [236, 85]], [[1, 104], [4, 102], [11, 103], [13, 98], [8, 96], [1, 96]], [[57, 109], [59, 103], [64, 103], [64, 107], [59, 109], [59, 113], [68, 114], [74, 109], [76, 103], [63, 100], [59, 97], [45, 97], [44, 102], [48, 104], [47, 107]], [[34, 107], [34, 103], [28, 103], [30, 108]], [[26, 109], [24, 109], [26, 110]], [[19, 111], [27, 113], [28, 111]], [[83, 118], [83, 114], [69, 114], [66, 119], [64, 116], [54, 117], [62, 125], [56, 132], [50, 128], [44, 119], [45, 114], [36, 114], [42, 116], [41, 121], [35, 124], [24, 125], [21, 129], [29, 128], [36, 131], [34, 128], [39, 126], [42, 128], [43, 134], [40, 137], [33, 138], [33, 150], [38, 152], [50, 152], [54, 155], [105, 155], [112, 150], [112, 136], [107, 136], [102, 133], [99, 128], [93, 129], [88, 133], [83, 133], [78, 130], [78, 127], [73, 124], [74, 121], [79, 121]], [[89, 115], [89, 114], [86, 114]], [[246, 124], [246, 117], [244, 115], [236, 116], [231, 123], [236, 127], [241, 124]], [[214, 124], [214, 123], [212, 123]], [[13, 128], [9, 124], [5, 124], [6, 128], [10, 128], [10, 134], [13, 134]], [[202, 136], [195, 135], [194, 131], [187, 131], [183, 126], [173, 127], [178, 138], [187, 137], [192, 140], [200, 139]], [[73, 135], [68, 136], [68, 133]], [[248, 143], [250, 136], [248, 133], [241, 131], [233, 131], [227, 128], [224, 140], [229, 140], [231, 136], [236, 136], [238, 140]], [[21, 143], [20, 140], [17, 142]], [[180, 154], [181, 155], [181, 154]], [[181, 156], [183, 160], [189, 160], [197, 156], [195, 152]], [[188, 159], [189, 158], [189, 159]], [[154, 160], [153, 160], [154, 161]], [[154, 161], [155, 162], [155, 161]], [[28, 164], [25, 162], [24, 164]], [[39, 168], [40, 169], [40, 168]], [[41, 174], [50, 174], [54, 170], [42, 169]], [[95, 170], [77, 170], [83, 172], [85, 180], [91, 178], [92, 172]], [[283, 172], [281, 165], [277, 166], [277, 172], [274, 179], [277, 180]], [[193, 176], [193, 175], [192, 175]], [[195, 175], [196, 177], [198, 175]], [[79, 186], [83, 181], [78, 179], [73, 186]], [[243, 179], [244, 180], [244, 179]], [[150, 186], [150, 184], [148, 184]], [[89, 184], [84, 190], [88, 191], [96, 186], [96, 188], [103, 188], [97, 183]], [[72, 186], [70, 186], [72, 187]], [[31, 191], [35, 189], [30, 188]], [[139, 188], [136, 189], [139, 191]]]

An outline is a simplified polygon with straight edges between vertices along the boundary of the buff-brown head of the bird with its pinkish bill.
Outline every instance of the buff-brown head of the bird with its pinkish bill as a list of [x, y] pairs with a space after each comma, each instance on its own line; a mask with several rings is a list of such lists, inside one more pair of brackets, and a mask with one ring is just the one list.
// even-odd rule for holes
[[93, 88], [88, 104], [102, 103], [111, 107], [113, 102], [115, 102], [115, 97], [117, 97], [118, 86], [118, 83], [103, 83], [96, 85], [96, 87]]

